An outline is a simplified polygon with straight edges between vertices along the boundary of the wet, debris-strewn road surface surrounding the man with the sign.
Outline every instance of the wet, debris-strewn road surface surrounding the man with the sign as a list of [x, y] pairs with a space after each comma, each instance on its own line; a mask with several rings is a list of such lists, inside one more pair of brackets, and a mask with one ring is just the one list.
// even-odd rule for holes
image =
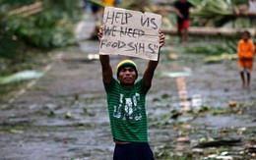
[[[162, 48], [147, 99], [156, 159], [255, 158], [255, 71], [251, 89], [242, 89], [236, 61], [207, 64], [206, 54], [176, 53], [186, 47], [176, 41], [170, 37]], [[198, 43], [211, 42], [187, 45]], [[100, 66], [89, 59], [97, 51], [98, 41], [84, 40], [49, 53], [45, 75], [0, 103], [0, 159], [111, 159]], [[123, 57], [111, 58], [114, 68]], [[141, 76], [147, 61], [133, 60]]]

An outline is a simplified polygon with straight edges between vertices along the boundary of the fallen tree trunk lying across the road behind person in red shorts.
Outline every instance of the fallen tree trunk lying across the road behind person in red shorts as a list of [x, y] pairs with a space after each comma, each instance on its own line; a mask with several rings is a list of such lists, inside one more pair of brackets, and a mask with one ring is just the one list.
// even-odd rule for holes
[[[177, 29], [175, 27], [163, 27], [160, 29], [164, 34], [177, 34]], [[227, 27], [189, 27], [190, 35], [223, 35], [232, 36], [238, 35], [244, 29], [237, 28], [227, 28]], [[252, 36], [255, 36], [256, 30], [254, 28], [247, 28]]]

